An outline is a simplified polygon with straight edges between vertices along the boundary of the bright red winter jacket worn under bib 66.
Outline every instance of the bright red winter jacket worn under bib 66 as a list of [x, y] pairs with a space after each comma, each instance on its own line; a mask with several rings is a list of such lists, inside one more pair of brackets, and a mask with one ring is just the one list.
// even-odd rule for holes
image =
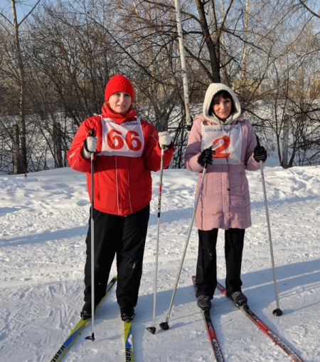
[[[142, 135], [137, 135], [137, 138], [141, 138], [138, 141], [139, 145], [142, 145], [141, 156], [127, 157], [127, 155], [112, 155], [112, 153], [100, 155], [103, 147], [102, 139], [105, 140], [105, 144], [111, 144], [113, 148], [116, 147], [110, 143], [110, 130], [107, 135], [108, 131], [105, 129], [106, 117], [115, 127], [117, 125], [124, 126], [122, 133], [126, 133], [127, 127], [129, 128], [132, 123], [130, 121], [137, 120], [137, 113], [131, 109], [128, 118], [123, 119], [117, 114], [111, 119], [110, 109], [107, 110], [105, 105], [102, 107], [102, 116], [96, 115], [84, 120], [68, 151], [68, 163], [73, 170], [87, 172], [87, 190], [90, 197], [91, 162], [90, 159], [82, 156], [82, 150], [83, 143], [93, 128], [95, 136], [98, 137], [97, 152], [95, 152], [94, 159], [94, 207], [96, 210], [108, 214], [126, 216], [142, 210], [151, 201], [151, 171], [159, 171], [161, 163], [158, 133], [153, 125], [145, 120], [140, 120], [141, 128], [139, 129], [142, 130]], [[129, 132], [126, 135], [122, 135], [118, 131], [112, 131], [111, 133], [111, 138], [114, 137], [120, 140], [121, 145], [130, 143], [130, 138], [127, 137]], [[173, 146], [164, 152], [164, 168], [169, 166], [173, 152]]]

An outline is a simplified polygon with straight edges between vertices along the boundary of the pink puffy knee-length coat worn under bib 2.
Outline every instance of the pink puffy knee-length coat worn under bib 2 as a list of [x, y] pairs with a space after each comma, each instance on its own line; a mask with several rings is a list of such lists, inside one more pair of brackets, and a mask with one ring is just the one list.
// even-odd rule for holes
[[[212, 125], [204, 115], [194, 119], [185, 156], [186, 168], [199, 172], [196, 197], [203, 172], [203, 167], [198, 163], [202, 142], [201, 124]], [[213, 165], [208, 165], [196, 210], [198, 229], [246, 229], [251, 226], [250, 192], [245, 170], [260, 169], [260, 163], [253, 158], [257, 140], [252, 125], [242, 114], [230, 122], [230, 125], [236, 124], [241, 125], [242, 132], [240, 164], [217, 164], [213, 158]]]

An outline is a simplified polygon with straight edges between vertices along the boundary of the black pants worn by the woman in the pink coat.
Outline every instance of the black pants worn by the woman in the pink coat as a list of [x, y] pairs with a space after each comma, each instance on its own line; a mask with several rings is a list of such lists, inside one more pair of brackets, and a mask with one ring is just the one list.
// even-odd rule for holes
[[[196, 296], [206, 295], [213, 298], [217, 286], [217, 244], [218, 229], [198, 230], [198, 262], [196, 269]], [[240, 279], [245, 229], [225, 230], [225, 288], [228, 294], [241, 291]]]

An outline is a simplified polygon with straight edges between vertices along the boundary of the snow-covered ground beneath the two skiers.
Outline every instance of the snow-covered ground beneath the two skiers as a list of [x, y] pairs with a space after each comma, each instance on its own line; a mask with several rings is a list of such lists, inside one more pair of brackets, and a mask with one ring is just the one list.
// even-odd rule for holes
[[[279, 306], [276, 308], [265, 203], [260, 171], [247, 172], [252, 227], [247, 229], [242, 290], [252, 310], [304, 361], [320, 361], [320, 167], [264, 168]], [[153, 326], [159, 172], [153, 173], [144, 273], [133, 325], [136, 361], [213, 361], [191, 276], [196, 271], [193, 227], [181, 277], [166, 321], [193, 214], [196, 174], [164, 170]], [[85, 235], [90, 205], [85, 175], [63, 168], [0, 175], [0, 361], [50, 361], [78, 322], [83, 299]], [[223, 284], [223, 232], [218, 236], [218, 279]], [[116, 274], [112, 267], [111, 276]], [[65, 361], [124, 361], [119, 307], [112, 289], [92, 324]], [[215, 291], [211, 316], [225, 361], [292, 361], [245, 314]]]

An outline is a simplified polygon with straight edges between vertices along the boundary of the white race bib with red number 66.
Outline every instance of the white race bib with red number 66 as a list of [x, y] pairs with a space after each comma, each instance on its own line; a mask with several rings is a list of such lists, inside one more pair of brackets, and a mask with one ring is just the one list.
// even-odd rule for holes
[[98, 155], [140, 157], [144, 149], [144, 135], [140, 118], [121, 125], [110, 118], [101, 118], [102, 150]]

